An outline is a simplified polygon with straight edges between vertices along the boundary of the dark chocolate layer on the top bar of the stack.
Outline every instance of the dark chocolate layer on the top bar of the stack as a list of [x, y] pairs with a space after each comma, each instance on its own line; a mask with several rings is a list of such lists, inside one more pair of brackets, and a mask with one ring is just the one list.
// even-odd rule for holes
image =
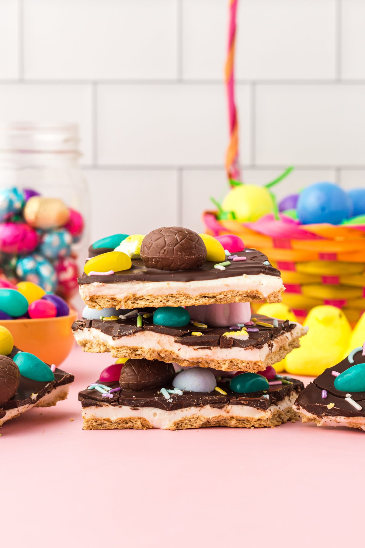
[[[108, 251], [110, 251], [108, 249]], [[105, 252], [105, 250], [100, 250]], [[99, 255], [100, 253], [98, 253]], [[84, 273], [78, 278], [80, 285], [85, 283], [117, 283], [117, 282], [192, 282], [194, 280], [204, 281], [208, 279], [231, 278], [233, 276], [266, 274], [280, 278], [280, 271], [274, 269], [266, 255], [256, 249], [245, 249], [242, 252], [234, 253], [239, 257], [245, 256], [245, 261], [230, 261], [225, 270], [215, 269], [217, 262], [205, 261], [204, 265], [194, 270], [157, 270], [147, 268], [141, 259], [133, 259], [129, 270], [115, 272], [108, 276], [86, 276]], [[90, 254], [90, 257], [92, 255]]]

